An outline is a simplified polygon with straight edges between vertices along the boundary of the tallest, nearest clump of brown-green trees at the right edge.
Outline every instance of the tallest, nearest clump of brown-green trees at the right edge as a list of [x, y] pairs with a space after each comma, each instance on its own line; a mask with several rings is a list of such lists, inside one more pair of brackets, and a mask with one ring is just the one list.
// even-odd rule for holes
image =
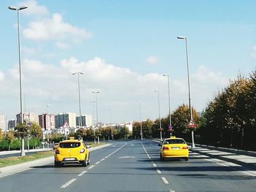
[[203, 112], [201, 142], [256, 150], [256, 72], [237, 77]]

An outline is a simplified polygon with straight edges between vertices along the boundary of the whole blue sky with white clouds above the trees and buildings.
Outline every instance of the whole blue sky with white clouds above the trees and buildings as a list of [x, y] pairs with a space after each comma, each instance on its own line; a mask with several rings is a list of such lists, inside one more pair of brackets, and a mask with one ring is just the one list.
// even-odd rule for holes
[[26, 111], [91, 114], [99, 93], [99, 121], [166, 116], [170, 75], [172, 110], [187, 104], [186, 36], [192, 105], [201, 111], [228, 80], [255, 70], [256, 1], [1, 1], [0, 113], [19, 112], [17, 18], [20, 12]]

